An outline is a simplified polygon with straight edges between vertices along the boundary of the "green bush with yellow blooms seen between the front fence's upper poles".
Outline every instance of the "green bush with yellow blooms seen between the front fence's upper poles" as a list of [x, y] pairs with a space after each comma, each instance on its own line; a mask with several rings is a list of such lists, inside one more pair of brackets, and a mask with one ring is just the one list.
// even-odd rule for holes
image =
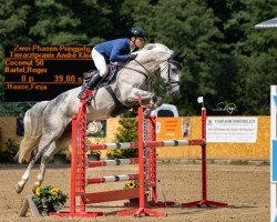
[[[115, 134], [114, 142], [134, 142], [137, 141], [137, 125], [134, 118], [122, 118], [119, 121], [120, 128]], [[107, 150], [107, 159], [119, 159], [119, 158], [134, 158], [137, 157], [137, 149], [116, 149]]]

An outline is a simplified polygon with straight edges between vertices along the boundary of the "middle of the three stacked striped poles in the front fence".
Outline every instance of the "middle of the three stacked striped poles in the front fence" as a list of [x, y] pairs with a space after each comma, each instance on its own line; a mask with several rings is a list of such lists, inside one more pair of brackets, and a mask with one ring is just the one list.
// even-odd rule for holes
[[100, 160], [100, 161], [89, 161], [89, 168], [105, 167], [105, 165], [127, 165], [135, 164], [138, 162], [137, 158], [130, 159], [116, 159], [116, 160]]

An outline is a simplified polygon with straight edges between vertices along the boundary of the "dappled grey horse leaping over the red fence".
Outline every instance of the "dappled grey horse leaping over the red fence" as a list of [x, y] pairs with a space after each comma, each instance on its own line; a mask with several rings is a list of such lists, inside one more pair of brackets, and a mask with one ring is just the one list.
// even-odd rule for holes
[[[141, 97], [147, 108], [145, 114], [162, 104], [160, 97], [151, 92], [151, 78], [158, 73], [164, 80], [167, 93], [176, 95], [179, 92], [181, 62], [184, 59], [161, 43], [146, 44], [137, 51], [135, 60], [122, 65], [116, 78], [106, 87], [99, 88], [88, 105], [89, 120], [103, 120], [123, 113], [137, 103]], [[34, 104], [24, 115], [24, 137], [20, 143], [18, 160], [29, 162], [21, 180], [16, 185], [20, 193], [27, 183], [31, 169], [41, 158], [40, 172], [33, 191], [44, 179], [45, 168], [53, 154], [59, 151], [62, 137], [74, 114], [78, 113], [81, 87], [65, 91], [51, 101]], [[112, 91], [112, 93], [111, 93]]]

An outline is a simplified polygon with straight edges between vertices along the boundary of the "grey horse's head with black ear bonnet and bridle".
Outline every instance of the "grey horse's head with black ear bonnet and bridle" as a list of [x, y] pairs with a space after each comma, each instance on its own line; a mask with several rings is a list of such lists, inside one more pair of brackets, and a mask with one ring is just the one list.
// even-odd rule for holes
[[171, 97], [175, 97], [179, 93], [181, 63], [184, 58], [185, 56], [183, 53], [174, 52], [165, 62], [160, 64], [161, 77], [164, 79], [166, 91]]

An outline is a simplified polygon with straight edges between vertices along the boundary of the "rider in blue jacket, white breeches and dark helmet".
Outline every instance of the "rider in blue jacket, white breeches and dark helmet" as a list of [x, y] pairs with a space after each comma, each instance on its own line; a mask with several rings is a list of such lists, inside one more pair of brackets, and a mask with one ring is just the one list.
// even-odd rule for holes
[[86, 89], [94, 89], [101, 82], [109, 72], [109, 63], [134, 60], [137, 54], [130, 53], [141, 49], [145, 40], [146, 32], [142, 28], [132, 28], [127, 33], [127, 38], [96, 44], [92, 49], [91, 56], [98, 70], [85, 81], [78, 97], [81, 98]]

